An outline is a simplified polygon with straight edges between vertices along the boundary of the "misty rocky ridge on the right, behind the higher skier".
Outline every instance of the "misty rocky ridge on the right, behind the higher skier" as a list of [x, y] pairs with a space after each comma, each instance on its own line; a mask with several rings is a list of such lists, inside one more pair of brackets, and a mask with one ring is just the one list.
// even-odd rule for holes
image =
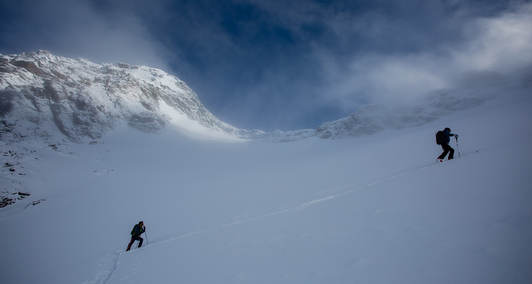
[[496, 72], [470, 72], [453, 89], [435, 90], [408, 106], [372, 104], [351, 116], [324, 123], [314, 136], [325, 139], [345, 139], [375, 134], [384, 129], [419, 126], [457, 111], [477, 107], [496, 98], [498, 94], [515, 88], [529, 88], [532, 74], [525, 72], [517, 78], [504, 77]]

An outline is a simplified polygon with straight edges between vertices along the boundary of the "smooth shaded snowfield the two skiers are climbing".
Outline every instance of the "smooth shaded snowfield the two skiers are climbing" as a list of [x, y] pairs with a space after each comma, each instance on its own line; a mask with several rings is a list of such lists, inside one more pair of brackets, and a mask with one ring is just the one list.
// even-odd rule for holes
[[[2, 282], [528, 284], [530, 94], [350, 140], [123, 124], [98, 144], [2, 141], [2, 177], [30, 193], [0, 208]], [[438, 163], [444, 127], [459, 147]]]

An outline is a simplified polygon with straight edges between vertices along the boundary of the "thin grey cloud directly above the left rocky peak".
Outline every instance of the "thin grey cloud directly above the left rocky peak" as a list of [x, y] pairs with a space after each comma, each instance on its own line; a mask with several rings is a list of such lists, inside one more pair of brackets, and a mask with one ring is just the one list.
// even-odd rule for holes
[[49, 50], [96, 63], [121, 61], [169, 69], [162, 59], [168, 50], [153, 40], [142, 19], [126, 5], [109, 11], [105, 2], [93, 1], [22, 0], [2, 5], [11, 14], [3, 29], [3, 53]]

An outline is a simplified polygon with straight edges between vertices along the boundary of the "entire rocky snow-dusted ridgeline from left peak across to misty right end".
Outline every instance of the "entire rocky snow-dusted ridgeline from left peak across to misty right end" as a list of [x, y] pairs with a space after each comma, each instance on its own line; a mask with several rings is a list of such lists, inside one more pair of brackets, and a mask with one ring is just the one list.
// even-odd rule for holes
[[38, 51], [0, 55], [0, 134], [93, 142], [125, 122], [146, 133], [175, 130], [225, 141], [348, 139], [423, 125], [479, 106], [508, 88], [526, 87], [523, 82], [494, 72], [472, 72], [459, 88], [434, 91], [408, 106], [370, 105], [316, 129], [247, 131], [220, 121], [184, 82], [162, 70], [95, 64]]

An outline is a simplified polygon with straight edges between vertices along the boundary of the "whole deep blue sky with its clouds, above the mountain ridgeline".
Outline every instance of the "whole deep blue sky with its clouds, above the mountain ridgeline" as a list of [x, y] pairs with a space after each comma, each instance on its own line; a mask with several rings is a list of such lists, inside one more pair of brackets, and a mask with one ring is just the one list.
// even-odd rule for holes
[[2, 1], [0, 53], [160, 68], [239, 128], [315, 128], [532, 62], [530, 1]]

